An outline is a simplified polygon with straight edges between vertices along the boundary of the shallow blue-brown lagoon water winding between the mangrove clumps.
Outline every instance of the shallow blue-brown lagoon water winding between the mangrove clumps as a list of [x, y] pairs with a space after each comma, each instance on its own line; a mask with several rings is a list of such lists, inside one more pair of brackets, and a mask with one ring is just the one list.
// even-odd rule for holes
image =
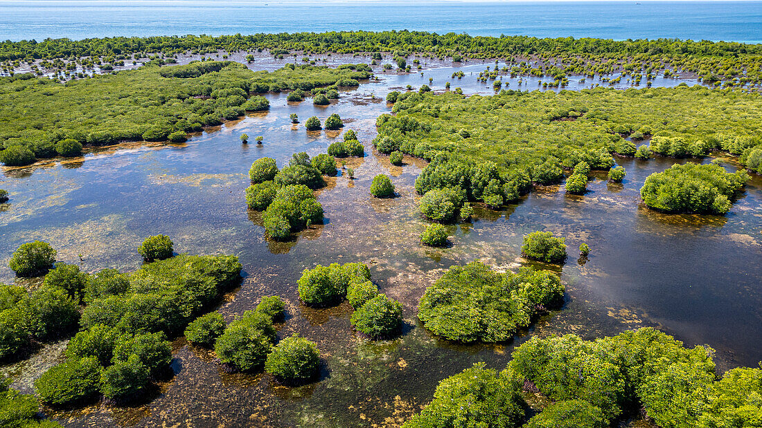
[[[469, 67], [478, 75], [484, 65], [464, 71]], [[165, 233], [177, 252], [239, 255], [245, 280], [226, 296], [220, 312], [229, 320], [252, 309], [261, 296], [283, 296], [288, 315], [278, 326], [280, 336], [298, 332], [316, 341], [325, 362], [320, 382], [285, 388], [264, 375], [223, 373], [213, 354], [179, 339], [176, 376], [150, 401], [53, 416], [68, 426], [399, 425], [431, 400], [440, 379], [477, 361], [502, 368], [512, 347], [527, 339], [523, 334], [513, 344], [473, 346], [440, 341], [416, 322], [415, 306], [450, 265], [476, 258], [504, 269], [521, 265], [522, 236], [533, 230], [565, 236], [571, 256], [561, 271], [567, 286], [564, 309], [540, 319], [531, 334], [574, 332], [594, 338], [653, 325], [690, 346], [714, 347], [721, 370], [762, 360], [758, 176], [725, 217], [670, 216], [642, 207], [639, 188], [645, 177], [675, 161], [617, 158], [627, 170], [622, 185], [610, 185], [600, 175], [584, 196], [565, 195], [557, 186], [538, 189], [504, 211], [477, 208], [472, 224], [450, 227], [450, 248], [422, 247], [418, 234], [425, 223], [413, 185], [424, 163], [406, 157], [405, 165], [392, 166], [388, 157], [373, 153], [370, 140], [376, 117], [389, 112], [382, 100], [389, 90], [418, 87], [429, 77], [437, 90], [452, 71], [438, 68], [424, 77], [381, 74], [381, 81], [344, 92], [338, 103], [325, 107], [309, 100], [287, 103], [285, 94], [269, 94], [270, 112], [227, 122], [186, 144], [130, 144], [65, 164], [4, 170], [0, 187], [11, 192], [11, 201], [0, 213], [0, 281], [14, 281], [8, 258], [31, 239], [52, 243], [59, 261], [78, 263], [85, 271], [134, 270], [141, 263], [136, 249], [142, 239]], [[468, 73], [453, 82], [456, 86], [467, 94], [492, 92], [491, 84], [478, 84]], [[342, 174], [318, 192], [325, 225], [299, 233], [293, 242], [271, 243], [264, 239], [258, 214], [245, 208], [248, 167], [259, 157], [274, 157], [283, 166], [294, 152], [325, 152], [338, 136], [293, 126], [290, 113], [302, 122], [338, 113], [366, 145], [366, 157], [347, 160], [357, 179]], [[240, 144], [244, 132], [263, 135], [264, 144]], [[370, 198], [370, 182], [378, 173], [392, 176], [398, 198]], [[583, 241], [592, 252], [579, 264], [575, 249]], [[378, 343], [355, 338], [346, 303], [321, 310], [299, 305], [300, 272], [331, 262], [370, 265], [379, 289], [404, 305], [400, 338]], [[62, 346], [51, 345], [27, 362], [6, 367], [15, 376], [14, 386], [29, 392], [32, 379], [55, 363]]]

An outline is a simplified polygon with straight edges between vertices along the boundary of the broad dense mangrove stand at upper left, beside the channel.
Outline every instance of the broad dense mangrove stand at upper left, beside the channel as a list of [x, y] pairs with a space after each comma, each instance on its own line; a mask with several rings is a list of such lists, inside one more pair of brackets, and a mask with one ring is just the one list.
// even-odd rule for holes
[[184, 141], [187, 132], [269, 108], [251, 94], [311, 90], [370, 76], [367, 65], [288, 65], [254, 72], [236, 62], [146, 66], [58, 84], [47, 78], [0, 78], [0, 161], [76, 156], [83, 145]]

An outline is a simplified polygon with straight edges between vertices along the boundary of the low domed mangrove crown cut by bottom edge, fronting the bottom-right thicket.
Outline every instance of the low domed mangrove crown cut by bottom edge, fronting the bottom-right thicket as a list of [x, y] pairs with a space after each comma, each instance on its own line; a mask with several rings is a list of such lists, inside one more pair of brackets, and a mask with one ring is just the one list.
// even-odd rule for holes
[[605, 428], [604, 413], [584, 400], [556, 401], [530, 419], [527, 428]]

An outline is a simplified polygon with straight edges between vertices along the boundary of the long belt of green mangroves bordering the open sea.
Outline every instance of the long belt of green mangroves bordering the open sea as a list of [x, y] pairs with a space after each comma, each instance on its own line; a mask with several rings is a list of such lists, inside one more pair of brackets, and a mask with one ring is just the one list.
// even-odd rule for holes
[[[469, 36], [417, 31], [344, 31], [328, 33], [251, 34], [242, 36], [151, 36], [107, 37], [85, 40], [46, 39], [5, 41], [0, 43], [0, 61], [11, 71], [21, 61], [40, 63], [46, 68], [69, 69], [72, 62], [83, 66], [98, 65], [110, 70], [125, 60], [148, 58], [150, 63], [173, 62], [179, 54], [223, 52], [261, 52], [276, 57], [290, 52], [370, 53], [380, 60], [380, 52], [389, 52], [400, 68], [412, 54], [450, 58], [453, 62], [471, 59], [503, 58], [511, 62], [512, 74], [559, 75], [632, 74], [640, 81], [656, 71], [665, 76], [688, 71], [707, 83], [734, 80], [737, 83], [760, 83], [762, 45], [707, 40], [605, 40], [573, 37], [536, 38], [529, 36]], [[296, 53], [294, 54], [296, 55]], [[247, 57], [248, 58], [248, 57]], [[251, 59], [254, 56], [251, 55]], [[248, 61], [251, 61], [248, 59]], [[533, 65], [536, 59], [542, 65]], [[34, 65], [35, 67], [37, 65]]]

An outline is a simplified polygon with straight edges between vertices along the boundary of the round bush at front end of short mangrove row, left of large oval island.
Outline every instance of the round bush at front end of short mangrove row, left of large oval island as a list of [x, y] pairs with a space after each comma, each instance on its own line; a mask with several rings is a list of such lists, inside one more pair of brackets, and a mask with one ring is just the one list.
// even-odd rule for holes
[[379, 294], [354, 311], [351, 322], [357, 331], [370, 338], [389, 338], [402, 328], [402, 305], [386, 294]]

